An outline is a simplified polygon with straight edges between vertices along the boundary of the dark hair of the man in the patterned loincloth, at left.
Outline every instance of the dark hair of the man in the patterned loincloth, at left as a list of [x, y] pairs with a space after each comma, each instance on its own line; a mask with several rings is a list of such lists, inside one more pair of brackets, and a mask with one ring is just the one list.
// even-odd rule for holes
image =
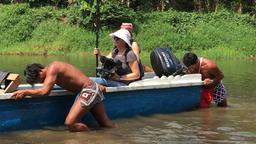
[[38, 63], [27, 65], [26, 69], [24, 70], [24, 76], [26, 77], [27, 83], [31, 85], [35, 84], [39, 77], [40, 70], [43, 68], [44, 66]]

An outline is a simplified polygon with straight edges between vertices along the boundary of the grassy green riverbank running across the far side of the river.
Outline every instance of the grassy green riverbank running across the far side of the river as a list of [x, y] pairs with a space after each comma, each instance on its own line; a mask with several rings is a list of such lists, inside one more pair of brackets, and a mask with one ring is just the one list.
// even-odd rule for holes
[[[75, 8], [31, 8], [27, 4], [0, 4], [1, 55], [70, 55], [91, 52], [95, 32], [72, 23]], [[138, 15], [141, 13], [138, 13]], [[177, 55], [195, 51], [213, 58], [256, 55], [255, 17], [225, 10], [215, 13], [152, 12], [134, 17], [134, 39], [142, 53], [172, 47]], [[110, 51], [109, 33], [119, 26], [104, 26], [99, 47]]]

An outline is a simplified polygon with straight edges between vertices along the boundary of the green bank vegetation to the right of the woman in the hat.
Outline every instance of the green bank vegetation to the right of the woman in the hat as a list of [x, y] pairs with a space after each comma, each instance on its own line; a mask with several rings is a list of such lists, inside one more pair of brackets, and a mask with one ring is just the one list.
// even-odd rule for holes
[[[171, 45], [174, 50], [203, 50], [227, 48], [256, 54], [254, 18], [234, 15], [225, 10], [218, 13], [154, 12], [143, 17], [137, 39], [147, 50]], [[141, 20], [141, 21], [142, 21]], [[147, 36], [155, 38], [148, 38]], [[148, 41], [150, 39], [150, 41]]]

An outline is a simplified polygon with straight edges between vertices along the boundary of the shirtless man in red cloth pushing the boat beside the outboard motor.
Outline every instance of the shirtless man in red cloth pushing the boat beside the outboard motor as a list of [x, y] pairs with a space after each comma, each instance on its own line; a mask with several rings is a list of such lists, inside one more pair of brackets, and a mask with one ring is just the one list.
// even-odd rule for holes
[[201, 91], [200, 108], [209, 108], [212, 99], [218, 106], [226, 107], [226, 91], [221, 83], [224, 75], [216, 63], [207, 58], [198, 58], [196, 54], [191, 52], [184, 55], [183, 63], [187, 66], [188, 73], [200, 73], [202, 75], [204, 86]]

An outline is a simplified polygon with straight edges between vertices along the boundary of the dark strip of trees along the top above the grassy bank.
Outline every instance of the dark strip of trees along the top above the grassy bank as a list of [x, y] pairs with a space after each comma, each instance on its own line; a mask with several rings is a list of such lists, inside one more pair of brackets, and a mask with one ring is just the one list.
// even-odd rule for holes
[[[1, 0], [0, 3], [28, 3], [31, 7], [54, 6], [55, 8], [67, 8], [73, 4], [82, 7], [92, 7], [96, 0]], [[216, 12], [219, 7], [237, 13], [254, 13], [255, 0], [100, 0], [103, 5], [111, 3], [118, 6], [127, 6], [135, 11], [168, 11], [170, 9], [186, 12]], [[87, 7], [86, 6], [86, 7]]]

